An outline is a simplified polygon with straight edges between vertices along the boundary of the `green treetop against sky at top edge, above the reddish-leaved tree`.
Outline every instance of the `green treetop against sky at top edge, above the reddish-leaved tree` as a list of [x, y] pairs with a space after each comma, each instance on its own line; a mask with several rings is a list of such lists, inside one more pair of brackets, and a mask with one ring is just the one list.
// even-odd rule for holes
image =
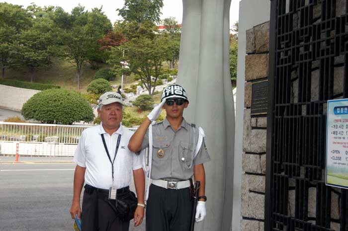
[[126, 22], [149, 21], [155, 24], [161, 21], [162, 7], [163, 0], [125, 0], [124, 6], [117, 11]]

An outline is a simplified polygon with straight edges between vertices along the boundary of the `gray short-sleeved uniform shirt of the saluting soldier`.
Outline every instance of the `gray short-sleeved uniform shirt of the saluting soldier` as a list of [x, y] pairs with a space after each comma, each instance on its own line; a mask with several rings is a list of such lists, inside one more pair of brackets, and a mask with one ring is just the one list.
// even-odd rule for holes
[[[199, 131], [183, 119], [175, 132], [167, 118], [152, 127], [153, 154], [151, 179], [187, 180], [193, 175], [193, 166], [208, 162], [210, 156], [204, 139], [194, 157]], [[149, 147], [148, 135], [144, 137], [142, 149]], [[164, 152], [163, 156], [158, 152]]]

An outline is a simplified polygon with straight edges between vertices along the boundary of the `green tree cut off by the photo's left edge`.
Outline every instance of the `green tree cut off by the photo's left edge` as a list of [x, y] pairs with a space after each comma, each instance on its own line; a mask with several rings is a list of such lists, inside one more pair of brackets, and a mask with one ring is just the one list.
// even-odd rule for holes
[[30, 13], [20, 5], [0, 2], [0, 66], [1, 77], [5, 68], [13, 64], [10, 52], [13, 50], [15, 36], [31, 26]]

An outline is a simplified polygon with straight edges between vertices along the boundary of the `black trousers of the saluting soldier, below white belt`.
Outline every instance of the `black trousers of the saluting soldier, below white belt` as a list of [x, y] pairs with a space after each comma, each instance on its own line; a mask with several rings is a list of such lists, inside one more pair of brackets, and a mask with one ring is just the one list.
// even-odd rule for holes
[[146, 231], [189, 231], [192, 207], [190, 188], [165, 189], [150, 185]]

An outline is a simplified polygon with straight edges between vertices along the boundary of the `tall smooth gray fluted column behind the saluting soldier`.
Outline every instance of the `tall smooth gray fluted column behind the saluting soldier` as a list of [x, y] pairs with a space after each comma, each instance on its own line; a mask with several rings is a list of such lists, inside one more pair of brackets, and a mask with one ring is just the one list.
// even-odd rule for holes
[[187, 91], [187, 121], [205, 131], [207, 217], [195, 231], [230, 231], [235, 115], [229, 69], [231, 0], [183, 0], [177, 83]]

